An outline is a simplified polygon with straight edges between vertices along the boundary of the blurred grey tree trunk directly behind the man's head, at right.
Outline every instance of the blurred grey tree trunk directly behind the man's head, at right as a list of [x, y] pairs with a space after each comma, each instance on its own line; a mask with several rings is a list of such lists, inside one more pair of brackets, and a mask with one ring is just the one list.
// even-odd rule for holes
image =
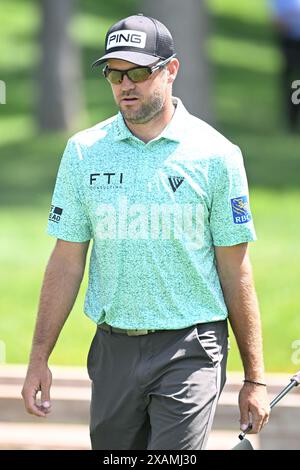
[[214, 123], [212, 71], [206, 54], [210, 17], [206, 1], [142, 0], [141, 12], [170, 29], [181, 63], [174, 94], [195, 116]]

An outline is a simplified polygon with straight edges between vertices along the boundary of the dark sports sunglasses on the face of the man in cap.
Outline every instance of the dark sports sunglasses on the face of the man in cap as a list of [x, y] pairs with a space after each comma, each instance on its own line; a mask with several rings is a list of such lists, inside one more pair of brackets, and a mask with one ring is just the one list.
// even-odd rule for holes
[[150, 76], [158, 69], [164, 67], [172, 58], [168, 57], [168, 59], [163, 60], [162, 62], [158, 62], [157, 64], [153, 65], [152, 67], [133, 67], [132, 69], [127, 70], [117, 70], [111, 69], [106, 65], [103, 69], [104, 77], [113, 85], [119, 85], [123, 81], [124, 75], [129, 78], [130, 81], [133, 83], [144, 82], [148, 80]]

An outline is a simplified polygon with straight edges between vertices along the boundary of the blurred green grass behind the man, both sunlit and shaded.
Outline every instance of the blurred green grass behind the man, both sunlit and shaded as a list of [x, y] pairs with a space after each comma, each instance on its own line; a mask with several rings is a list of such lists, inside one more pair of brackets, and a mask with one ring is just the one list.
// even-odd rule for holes
[[[251, 246], [268, 371], [290, 371], [292, 342], [300, 338], [299, 137], [280, 113], [281, 58], [266, 3], [211, 0], [208, 49], [215, 70], [216, 127], [244, 154], [259, 241]], [[54, 246], [45, 226], [64, 133], [41, 135], [34, 120], [39, 60], [38, 3], [3, 2], [0, 79], [0, 340], [7, 361], [27, 361], [45, 264]], [[136, 11], [135, 1], [81, 0], [72, 34], [82, 46], [86, 114], [80, 128], [115, 112], [108, 85], [91, 62], [103, 50], [107, 27]], [[52, 363], [84, 364], [94, 325], [82, 314], [86, 279], [52, 355]], [[230, 369], [240, 368], [232, 341]]]

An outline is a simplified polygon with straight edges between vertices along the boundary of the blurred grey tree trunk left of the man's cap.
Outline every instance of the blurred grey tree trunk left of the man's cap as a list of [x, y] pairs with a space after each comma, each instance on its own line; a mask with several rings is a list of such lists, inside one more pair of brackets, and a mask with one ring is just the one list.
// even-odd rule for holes
[[79, 48], [70, 34], [76, 0], [40, 0], [41, 62], [38, 124], [43, 131], [72, 130], [82, 115]]

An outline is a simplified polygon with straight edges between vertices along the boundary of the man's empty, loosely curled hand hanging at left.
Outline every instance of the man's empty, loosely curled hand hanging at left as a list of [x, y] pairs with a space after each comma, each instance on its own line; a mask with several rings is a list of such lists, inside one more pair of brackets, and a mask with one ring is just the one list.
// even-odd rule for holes
[[[51, 411], [50, 387], [52, 374], [47, 364], [29, 365], [22, 389], [24, 405], [28, 413], [46, 417]], [[41, 392], [41, 402], [37, 402], [37, 394]]]

